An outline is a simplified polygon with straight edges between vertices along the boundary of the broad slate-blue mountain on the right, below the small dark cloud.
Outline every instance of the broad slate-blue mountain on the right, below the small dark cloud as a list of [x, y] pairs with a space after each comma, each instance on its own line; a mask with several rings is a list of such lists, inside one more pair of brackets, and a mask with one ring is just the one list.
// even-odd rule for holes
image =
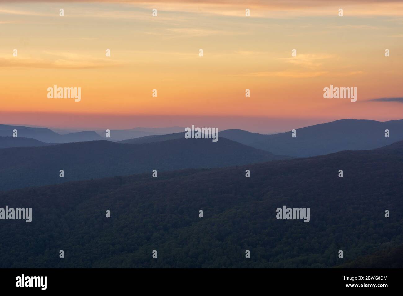
[[[385, 130], [390, 137], [385, 137]], [[224, 130], [219, 136], [274, 154], [293, 157], [324, 155], [343, 150], [363, 150], [382, 147], [403, 140], [403, 120], [342, 119], [275, 135], [261, 135], [244, 130]]]

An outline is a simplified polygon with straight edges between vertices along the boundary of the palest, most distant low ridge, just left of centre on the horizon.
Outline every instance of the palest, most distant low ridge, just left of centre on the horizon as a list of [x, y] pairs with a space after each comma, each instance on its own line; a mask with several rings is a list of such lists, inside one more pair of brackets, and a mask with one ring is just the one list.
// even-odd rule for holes
[[124, 141], [128, 139], [135, 139], [139, 137], [147, 137], [153, 135], [165, 135], [173, 132], [182, 132], [185, 128], [178, 126], [166, 127], [166, 128], [146, 128], [137, 127], [129, 130], [111, 130], [110, 137], [106, 138], [105, 130], [97, 131], [101, 137], [108, 139], [110, 141]]

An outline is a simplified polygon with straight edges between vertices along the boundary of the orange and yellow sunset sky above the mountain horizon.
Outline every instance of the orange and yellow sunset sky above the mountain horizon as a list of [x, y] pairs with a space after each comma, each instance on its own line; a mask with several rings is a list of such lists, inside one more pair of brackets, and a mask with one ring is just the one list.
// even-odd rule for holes
[[[402, 28], [399, 1], [0, 0], [0, 123], [269, 133], [402, 119]], [[54, 85], [81, 100], [48, 98]], [[330, 85], [357, 101], [325, 99]]]

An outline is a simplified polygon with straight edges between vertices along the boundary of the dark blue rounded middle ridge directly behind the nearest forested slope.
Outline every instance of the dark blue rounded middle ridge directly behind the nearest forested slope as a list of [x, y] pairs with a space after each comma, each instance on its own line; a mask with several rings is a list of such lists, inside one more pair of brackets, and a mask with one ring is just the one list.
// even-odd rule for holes
[[[152, 170], [217, 168], [285, 159], [231, 140], [177, 139], [131, 145], [109, 141], [0, 149], [0, 190]], [[64, 170], [64, 178], [59, 171]], [[158, 175], [158, 173], [157, 173]]]

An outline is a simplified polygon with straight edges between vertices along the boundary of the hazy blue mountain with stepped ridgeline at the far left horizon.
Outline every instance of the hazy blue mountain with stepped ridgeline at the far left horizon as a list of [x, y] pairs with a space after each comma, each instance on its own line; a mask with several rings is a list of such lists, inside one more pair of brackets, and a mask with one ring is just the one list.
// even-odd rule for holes
[[12, 137], [13, 130], [17, 130], [18, 137], [36, 139], [45, 143], [70, 143], [103, 139], [95, 131], [72, 132], [66, 135], [60, 135], [49, 128], [5, 124], [0, 124], [0, 137]]

